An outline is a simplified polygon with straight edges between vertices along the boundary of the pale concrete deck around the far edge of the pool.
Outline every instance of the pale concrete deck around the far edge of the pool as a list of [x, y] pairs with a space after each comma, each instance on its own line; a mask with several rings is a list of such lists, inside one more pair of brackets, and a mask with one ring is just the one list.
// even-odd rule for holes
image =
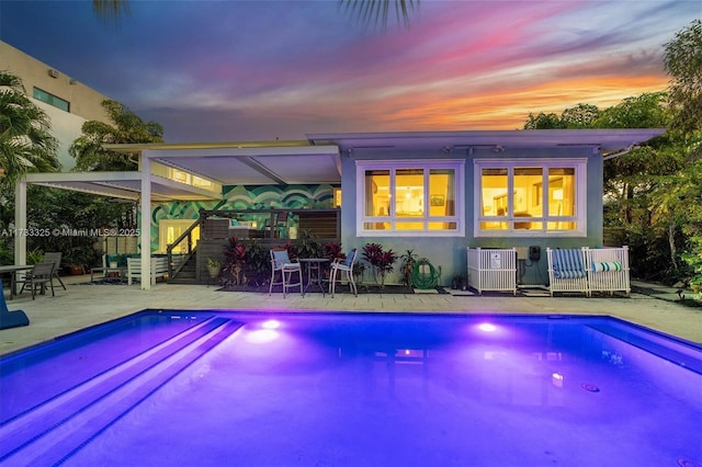
[[518, 297], [509, 293], [477, 296], [455, 291], [455, 295], [364, 294], [358, 297], [337, 293], [333, 298], [329, 294], [301, 297], [293, 293], [283, 298], [280, 293], [269, 296], [218, 292], [219, 287], [205, 285], [158, 283], [149, 291], [141, 291], [138, 285], [89, 284], [89, 275], [61, 278], [67, 289], [59, 284], [55, 297], [49, 293], [32, 300], [31, 294], [24, 293], [8, 301], [11, 311], [24, 310], [30, 326], [0, 330], [0, 355], [143, 309], [609, 315], [702, 343], [702, 309], [675, 303], [675, 289], [642, 283], [632, 285], [645, 293], [633, 292], [631, 298], [563, 294], [550, 297], [543, 291]]

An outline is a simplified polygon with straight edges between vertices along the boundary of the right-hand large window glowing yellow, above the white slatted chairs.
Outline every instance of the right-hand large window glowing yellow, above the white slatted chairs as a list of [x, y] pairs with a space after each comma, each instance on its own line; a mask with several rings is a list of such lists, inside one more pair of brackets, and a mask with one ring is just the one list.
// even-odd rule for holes
[[586, 235], [586, 160], [476, 160], [475, 236]]

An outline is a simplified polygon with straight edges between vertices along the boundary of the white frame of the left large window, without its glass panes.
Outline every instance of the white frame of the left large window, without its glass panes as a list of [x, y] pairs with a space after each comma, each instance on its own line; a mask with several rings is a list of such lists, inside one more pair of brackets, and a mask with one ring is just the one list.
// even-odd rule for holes
[[[428, 183], [429, 171], [434, 169], [451, 169], [454, 171], [454, 215], [453, 216], [430, 216], [429, 209], [424, 209], [421, 219], [412, 219], [412, 221], [423, 223], [422, 229], [397, 230], [393, 226], [395, 223], [407, 223], [407, 217], [397, 217], [395, 209], [388, 213], [388, 216], [366, 216], [365, 215], [365, 172], [366, 170], [389, 170], [390, 173], [390, 193], [395, 191], [396, 171], [400, 169], [422, 169], [424, 171], [424, 193], [426, 203], [430, 200], [430, 186]], [[465, 237], [465, 160], [464, 159], [397, 159], [397, 160], [356, 160], [355, 161], [355, 223], [356, 237]], [[388, 229], [365, 229], [366, 223], [389, 223]], [[429, 223], [455, 223], [456, 228], [453, 230], [432, 230], [428, 228]]]

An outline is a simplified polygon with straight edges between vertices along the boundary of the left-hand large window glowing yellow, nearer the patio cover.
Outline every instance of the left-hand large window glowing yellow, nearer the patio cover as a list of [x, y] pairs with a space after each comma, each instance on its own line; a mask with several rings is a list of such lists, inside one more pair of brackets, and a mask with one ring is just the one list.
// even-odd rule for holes
[[462, 236], [463, 161], [356, 161], [358, 235]]

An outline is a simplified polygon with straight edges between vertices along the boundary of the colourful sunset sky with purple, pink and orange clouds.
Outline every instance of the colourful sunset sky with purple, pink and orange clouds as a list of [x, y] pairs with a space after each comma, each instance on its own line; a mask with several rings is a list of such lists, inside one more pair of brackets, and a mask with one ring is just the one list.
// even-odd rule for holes
[[369, 27], [336, 0], [0, 0], [0, 39], [179, 141], [521, 128], [530, 112], [663, 91], [702, 1], [421, 0]]

